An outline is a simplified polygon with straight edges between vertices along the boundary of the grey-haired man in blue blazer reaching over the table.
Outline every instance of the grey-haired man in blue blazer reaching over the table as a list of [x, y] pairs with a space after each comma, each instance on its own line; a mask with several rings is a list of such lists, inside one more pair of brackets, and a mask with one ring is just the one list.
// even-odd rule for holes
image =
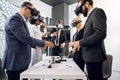
[[33, 5], [24, 2], [20, 11], [7, 19], [5, 23], [6, 45], [2, 66], [6, 69], [8, 80], [19, 80], [20, 73], [28, 68], [31, 59], [31, 46], [54, 46], [49, 41], [30, 37], [26, 21], [33, 16], [33, 11]]

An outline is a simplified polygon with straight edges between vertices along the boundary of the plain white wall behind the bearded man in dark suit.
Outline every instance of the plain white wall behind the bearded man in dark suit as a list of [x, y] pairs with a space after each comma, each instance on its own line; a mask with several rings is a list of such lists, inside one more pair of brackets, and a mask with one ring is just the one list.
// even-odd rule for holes
[[[113, 55], [113, 70], [120, 71], [120, 0], [94, 0], [94, 7], [103, 8], [107, 15], [107, 54]], [[76, 3], [69, 6], [69, 23], [75, 16]], [[82, 17], [83, 19], [83, 17]], [[84, 20], [85, 21], [85, 20]]]

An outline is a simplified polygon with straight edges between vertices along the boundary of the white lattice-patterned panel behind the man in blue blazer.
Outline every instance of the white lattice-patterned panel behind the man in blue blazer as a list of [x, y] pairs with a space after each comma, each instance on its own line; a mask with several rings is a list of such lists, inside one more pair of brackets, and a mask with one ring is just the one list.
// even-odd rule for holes
[[4, 0], [0, 0], [0, 58], [3, 56], [4, 47], [5, 47], [5, 32], [4, 32], [4, 23], [7, 17], [14, 14], [18, 11], [18, 7], [5, 2]]

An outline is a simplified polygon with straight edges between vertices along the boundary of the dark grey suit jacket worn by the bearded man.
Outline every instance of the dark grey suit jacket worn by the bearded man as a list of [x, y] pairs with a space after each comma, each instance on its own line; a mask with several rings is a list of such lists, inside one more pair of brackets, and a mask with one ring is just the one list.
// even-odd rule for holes
[[84, 25], [83, 39], [80, 40], [83, 59], [86, 62], [99, 62], [106, 59], [104, 39], [106, 38], [106, 15], [95, 8]]

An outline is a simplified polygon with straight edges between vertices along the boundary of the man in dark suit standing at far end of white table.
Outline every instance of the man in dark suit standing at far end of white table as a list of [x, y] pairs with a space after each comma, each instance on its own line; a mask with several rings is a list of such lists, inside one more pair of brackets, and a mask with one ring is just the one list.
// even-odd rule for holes
[[61, 48], [61, 44], [65, 42], [65, 32], [62, 30], [63, 29], [63, 21], [58, 20], [58, 23], [56, 25], [56, 28], [53, 28], [51, 33], [57, 33], [56, 36], [54, 36], [54, 44], [55, 46], [52, 48], [52, 55], [54, 56], [60, 56], [63, 52]]

